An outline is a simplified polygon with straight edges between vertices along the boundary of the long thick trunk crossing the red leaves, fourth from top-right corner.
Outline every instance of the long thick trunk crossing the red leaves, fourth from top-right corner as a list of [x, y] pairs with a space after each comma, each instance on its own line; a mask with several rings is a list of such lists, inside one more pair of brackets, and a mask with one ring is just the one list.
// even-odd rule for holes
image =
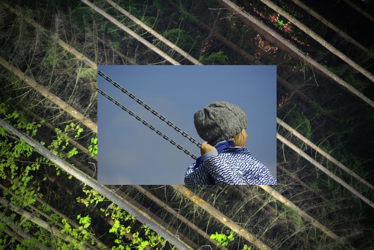
[[346, 81], [338, 77], [337, 75], [333, 74], [332, 72], [328, 71], [324, 66], [316, 62], [314, 59], [307, 56], [303, 51], [299, 50], [296, 46], [289, 43], [285, 38], [281, 37], [275, 31], [258, 21], [253, 16], [249, 15], [248, 13], [244, 12], [241, 8], [239, 8], [236, 4], [234, 4], [230, 0], [216, 0], [218, 4], [226, 8], [229, 12], [232, 12], [234, 16], [238, 17], [243, 21], [245, 24], [249, 25], [254, 31], [258, 32], [262, 37], [264, 37], [267, 41], [272, 44], [275, 44], [277, 47], [289, 53], [290, 56], [294, 57], [297, 60], [300, 60], [301, 63], [309, 64], [312, 66], [312, 69], [317, 74], [337, 82], [338, 84], [342, 85], [343, 87], [347, 88], [351, 93], [355, 94], [370, 106], [374, 107], [374, 101], [370, 100], [368, 97], [364, 96], [360, 91], [353, 88], [349, 85]]

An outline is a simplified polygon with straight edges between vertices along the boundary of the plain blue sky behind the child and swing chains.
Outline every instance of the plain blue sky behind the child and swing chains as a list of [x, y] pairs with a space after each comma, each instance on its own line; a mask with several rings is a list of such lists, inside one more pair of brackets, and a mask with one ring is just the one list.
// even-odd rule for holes
[[[246, 147], [276, 177], [276, 66], [129, 66], [98, 69], [202, 143], [194, 113], [228, 101], [248, 116]], [[200, 149], [98, 75], [98, 88], [195, 156]], [[195, 160], [98, 93], [98, 182], [184, 184]]]

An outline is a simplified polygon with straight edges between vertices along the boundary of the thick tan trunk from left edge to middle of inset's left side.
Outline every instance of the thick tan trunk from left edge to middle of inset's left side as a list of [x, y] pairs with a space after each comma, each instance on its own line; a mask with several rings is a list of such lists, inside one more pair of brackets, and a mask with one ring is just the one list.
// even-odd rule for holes
[[79, 113], [73, 107], [69, 106], [67, 103], [65, 103], [65, 101], [61, 100], [58, 96], [50, 93], [50, 91], [48, 91], [45, 87], [43, 87], [42, 85], [38, 84], [36, 81], [31, 79], [30, 76], [27, 76], [24, 72], [20, 71], [15, 66], [10, 65], [10, 63], [4, 60], [3, 57], [1, 56], [0, 56], [0, 64], [3, 65], [5, 68], [7, 68], [13, 74], [21, 78], [23, 81], [25, 81], [28, 85], [33, 87], [36, 91], [38, 91], [40, 94], [45, 96], [48, 100], [55, 103], [62, 110], [67, 112], [69, 115], [73, 116], [79, 122], [82, 122], [84, 125], [86, 125], [88, 128], [90, 128], [93, 132], [97, 134], [97, 124], [95, 124], [89, 118]]

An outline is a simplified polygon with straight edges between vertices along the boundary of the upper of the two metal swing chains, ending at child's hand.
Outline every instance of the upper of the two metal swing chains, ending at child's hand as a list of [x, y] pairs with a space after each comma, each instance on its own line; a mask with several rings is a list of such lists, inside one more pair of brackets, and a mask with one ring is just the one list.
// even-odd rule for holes
[[135, 97], [133, 94], [131, 94], [129, 91], [127, 91], [125, 88], [121, 87], [117, 82], [113, 81], [109, 76], [105, 75], [101, 71], [97, 71], [99, 75], [105, 78], [108, 82], [114, 85], [114, 87], [118, 88], [121, 90], [123, 93], [127, 94], [131, 99], [134, 99], [137, 101], [137, 103], [141, 104], [141, 106], [145, 107], [145, 109], [149, 110], [153, 115], [157, 116], [160, 118], [161, 121], [166, 122], [169, 126], [173, 127], [175, 131], [180, 132], [184, 137], [188, 138], [192, 143], [196, 144], [197, 147], [201, 147], [201, 143], [196, 142], [196, 140], [193, 137], [188, 136], [186, 132], [183, 132], [179, 127], [175, 126], [171, 121], [167, 120], [165, 116], [160, 115], [156, 110], [152, 109], [150, 106], [145, 104], [142, 100], [138, 99]]

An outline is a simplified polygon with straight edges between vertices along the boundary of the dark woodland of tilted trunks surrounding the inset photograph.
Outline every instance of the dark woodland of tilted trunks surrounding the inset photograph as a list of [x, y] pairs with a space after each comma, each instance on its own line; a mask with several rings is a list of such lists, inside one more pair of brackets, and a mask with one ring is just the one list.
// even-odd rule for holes
[[0, 127], [0, 249], [373, 249], [373, 1], [83, 1], [1, 1], [1, 119], [95, 180], [97, 65], [277, 65], [278, 185], [107, 187], [154, 232]]

